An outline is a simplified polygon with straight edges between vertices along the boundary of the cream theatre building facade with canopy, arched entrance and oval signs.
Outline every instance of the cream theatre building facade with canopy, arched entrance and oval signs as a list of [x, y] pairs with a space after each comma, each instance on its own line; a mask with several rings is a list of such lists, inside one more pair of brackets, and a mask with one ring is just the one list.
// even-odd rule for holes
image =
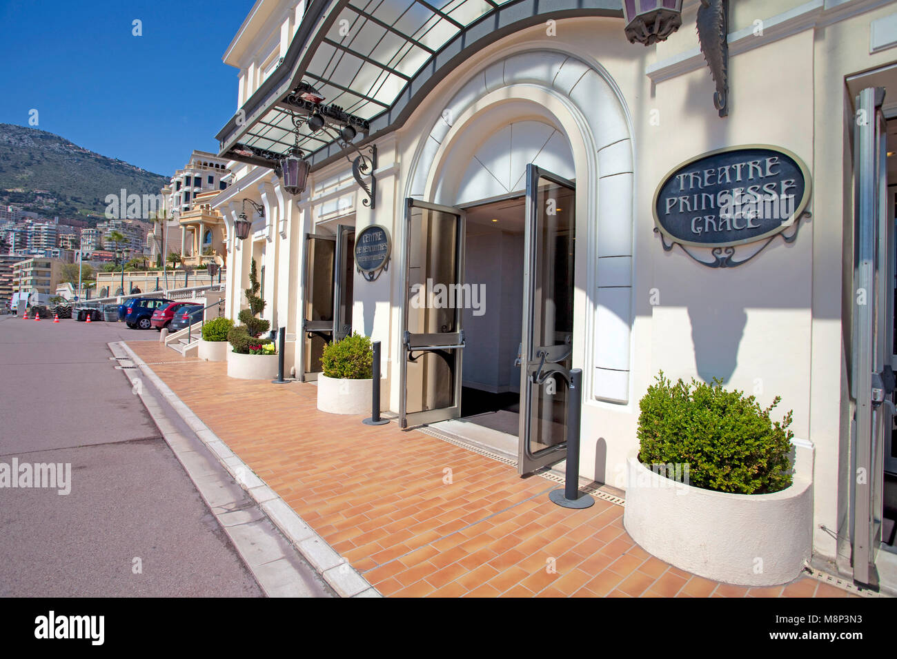
[[[581, 369], [580, 475], [621, 489], [661, 371], [763, 406], [780, 396], [813, 486], [813, 560], [859, 583], [878, 561], [897, 587], [893, 519], [875, 526], [897, 451], [890, 408], [861, 384], [871, 348], [857, 337], [871, 330], [854, 258], [872, 217], [855, 186], [881, 190], [873, 214], [889, 227], [897, 202], [897, 3], [731, 3], [727, 60], [699, 42], [701, 2], [683, 5], [682, 27], [643, 47], [620, 0], [259, 0], [224, 56], [239, 70], [217, 136], [233, 185], [212, 203], [227, 313], [246, 307], [255, 261], [296, 377], [317, 377], [327, 341], [370, 336], [385, 412], [472, 433], [521, 473], [565, 456], [569, 391], [539, 387]], [[310, 172], [292, 195], [277, 167], [297, 144]], [[745, 212], [765, 199], [785, 205]], [[894, 251], [876, 261], [876, 373], [894, 360]], [[492, 421], [467, 417], [466, 401]], [[884, 445], [872, 504], [851, 476], [875, 445], [869, 419]], [[870, 558], [863, 524], [876, 549], [891, 545]]]

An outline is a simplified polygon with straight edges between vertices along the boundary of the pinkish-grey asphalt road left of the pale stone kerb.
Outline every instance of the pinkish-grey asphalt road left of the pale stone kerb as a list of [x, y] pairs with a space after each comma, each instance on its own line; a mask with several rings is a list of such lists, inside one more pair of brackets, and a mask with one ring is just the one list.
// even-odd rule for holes
[[0, 596], [262, 595], [109, 359], [158, 336], [0, 316], [0, 470], [71, 464], [67, 495], [0, 471]]

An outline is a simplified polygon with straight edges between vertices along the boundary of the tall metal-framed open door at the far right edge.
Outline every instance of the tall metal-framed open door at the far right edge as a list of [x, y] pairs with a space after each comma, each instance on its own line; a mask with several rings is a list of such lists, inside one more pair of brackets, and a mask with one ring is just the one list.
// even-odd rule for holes
[[[892, 426], [894, 391], [893, 227], [887, 204], [887, 131], [884, 89], [870, 87], [857, 97], [854, 141], [856, 173], [853, 360], [851, 397], [856, 402], [851, 433], [853, 578], [877, 589], [875, 558], [882, 540], [884, 434]], [[865, 117], [865, 120], [863, 120]]]

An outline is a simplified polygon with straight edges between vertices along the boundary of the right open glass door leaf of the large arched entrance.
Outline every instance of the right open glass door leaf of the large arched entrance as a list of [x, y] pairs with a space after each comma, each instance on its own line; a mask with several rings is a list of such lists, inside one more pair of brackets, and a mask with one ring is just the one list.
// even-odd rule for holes
[[567, 455], [567, 381], [572, 368], [573, 252], [576, 188], [572, 181], [527, 165], [523, 256], [518, 472]]

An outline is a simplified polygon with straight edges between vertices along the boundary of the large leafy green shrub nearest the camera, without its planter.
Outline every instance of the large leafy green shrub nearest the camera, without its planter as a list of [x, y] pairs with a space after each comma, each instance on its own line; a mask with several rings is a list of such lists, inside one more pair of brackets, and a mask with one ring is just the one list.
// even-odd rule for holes
[[639, 407], [642, 464], [688, 464], [690, 485], [738, 494], [767, 494], [791, 484], [788, 454], [793, 412], [771, 421], [780, 396], [762, 409], [753, 396], [727, 391], [722, 381], [648, 387]]

